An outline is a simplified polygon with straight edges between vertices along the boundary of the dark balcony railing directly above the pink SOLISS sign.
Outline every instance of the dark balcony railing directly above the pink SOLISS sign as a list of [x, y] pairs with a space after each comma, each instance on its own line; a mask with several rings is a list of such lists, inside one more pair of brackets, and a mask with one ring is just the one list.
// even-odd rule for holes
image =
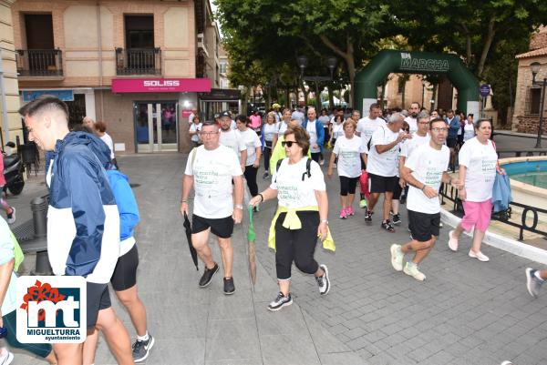
[[160, 48], [116, 48], [116, 73], [160, 76]]

